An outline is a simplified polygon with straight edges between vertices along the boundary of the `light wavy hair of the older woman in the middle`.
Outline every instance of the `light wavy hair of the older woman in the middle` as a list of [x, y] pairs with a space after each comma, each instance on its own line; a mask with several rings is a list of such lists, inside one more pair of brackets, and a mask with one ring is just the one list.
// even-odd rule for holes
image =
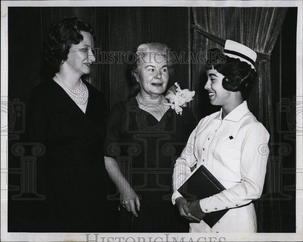
[[171, 74], [173, 74], [174, 72], [172, 68], [173, 54], [165, 44], [159, 42], [150, 42], [150, 43], [141, 44], [138, 47], [133, 48], [132, 51], [128, 52], [127, 55], [128, 66], [126, 69], [126, 75], [130, 80], [131, 85], [134, 88], [133, 93], [139, 92], [140, 90], [140, 86], [136, 80], [136, 77], [138, 77], [141, 72], [141, 66], [143, 63], [141, 59], [145, 58], [150, 54], [155, 54], [155, 53], [161, 54], [162, 56], [165, 57], [168, 66], [167, 68], [168, 75], [171, 76]]

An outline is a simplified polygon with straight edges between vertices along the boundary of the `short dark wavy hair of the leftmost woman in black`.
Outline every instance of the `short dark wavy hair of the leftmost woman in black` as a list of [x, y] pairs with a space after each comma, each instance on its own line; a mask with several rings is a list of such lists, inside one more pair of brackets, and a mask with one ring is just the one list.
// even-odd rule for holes
[[66, 61], [71, 45], [78, 45], [83, 40], [80, 31], [90, 33], [95, 41], [92, 25], [80, 18], [63, 18], [53, 25], [46, 37], [45, 59], [58, 69], [59, 64]]

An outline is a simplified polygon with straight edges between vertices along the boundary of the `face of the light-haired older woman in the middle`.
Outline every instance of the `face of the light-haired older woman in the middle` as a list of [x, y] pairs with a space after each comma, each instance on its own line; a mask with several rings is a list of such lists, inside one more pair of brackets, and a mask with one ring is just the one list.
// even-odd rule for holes
[[140, 84], [142, 96], [159, 96], [167, 86], [169, 75], [166, 59], [164, 56], [157, 54], [147, 55], [142, 59], [141, 71], [135, 75], [137, 82]]

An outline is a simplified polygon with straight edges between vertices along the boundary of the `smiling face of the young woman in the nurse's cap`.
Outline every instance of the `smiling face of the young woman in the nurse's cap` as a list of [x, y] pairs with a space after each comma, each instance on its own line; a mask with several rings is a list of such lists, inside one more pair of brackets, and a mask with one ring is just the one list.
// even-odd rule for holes
[[233, 103], [235, 100], [235, 92], [228, 91], [223, 88], [222, 80], [224, 76], [215, 69], [207, 70], [208, 80], [204, 88], [208, 91], [210, 103], [212, 105], [220, 105], [222, 107]]

